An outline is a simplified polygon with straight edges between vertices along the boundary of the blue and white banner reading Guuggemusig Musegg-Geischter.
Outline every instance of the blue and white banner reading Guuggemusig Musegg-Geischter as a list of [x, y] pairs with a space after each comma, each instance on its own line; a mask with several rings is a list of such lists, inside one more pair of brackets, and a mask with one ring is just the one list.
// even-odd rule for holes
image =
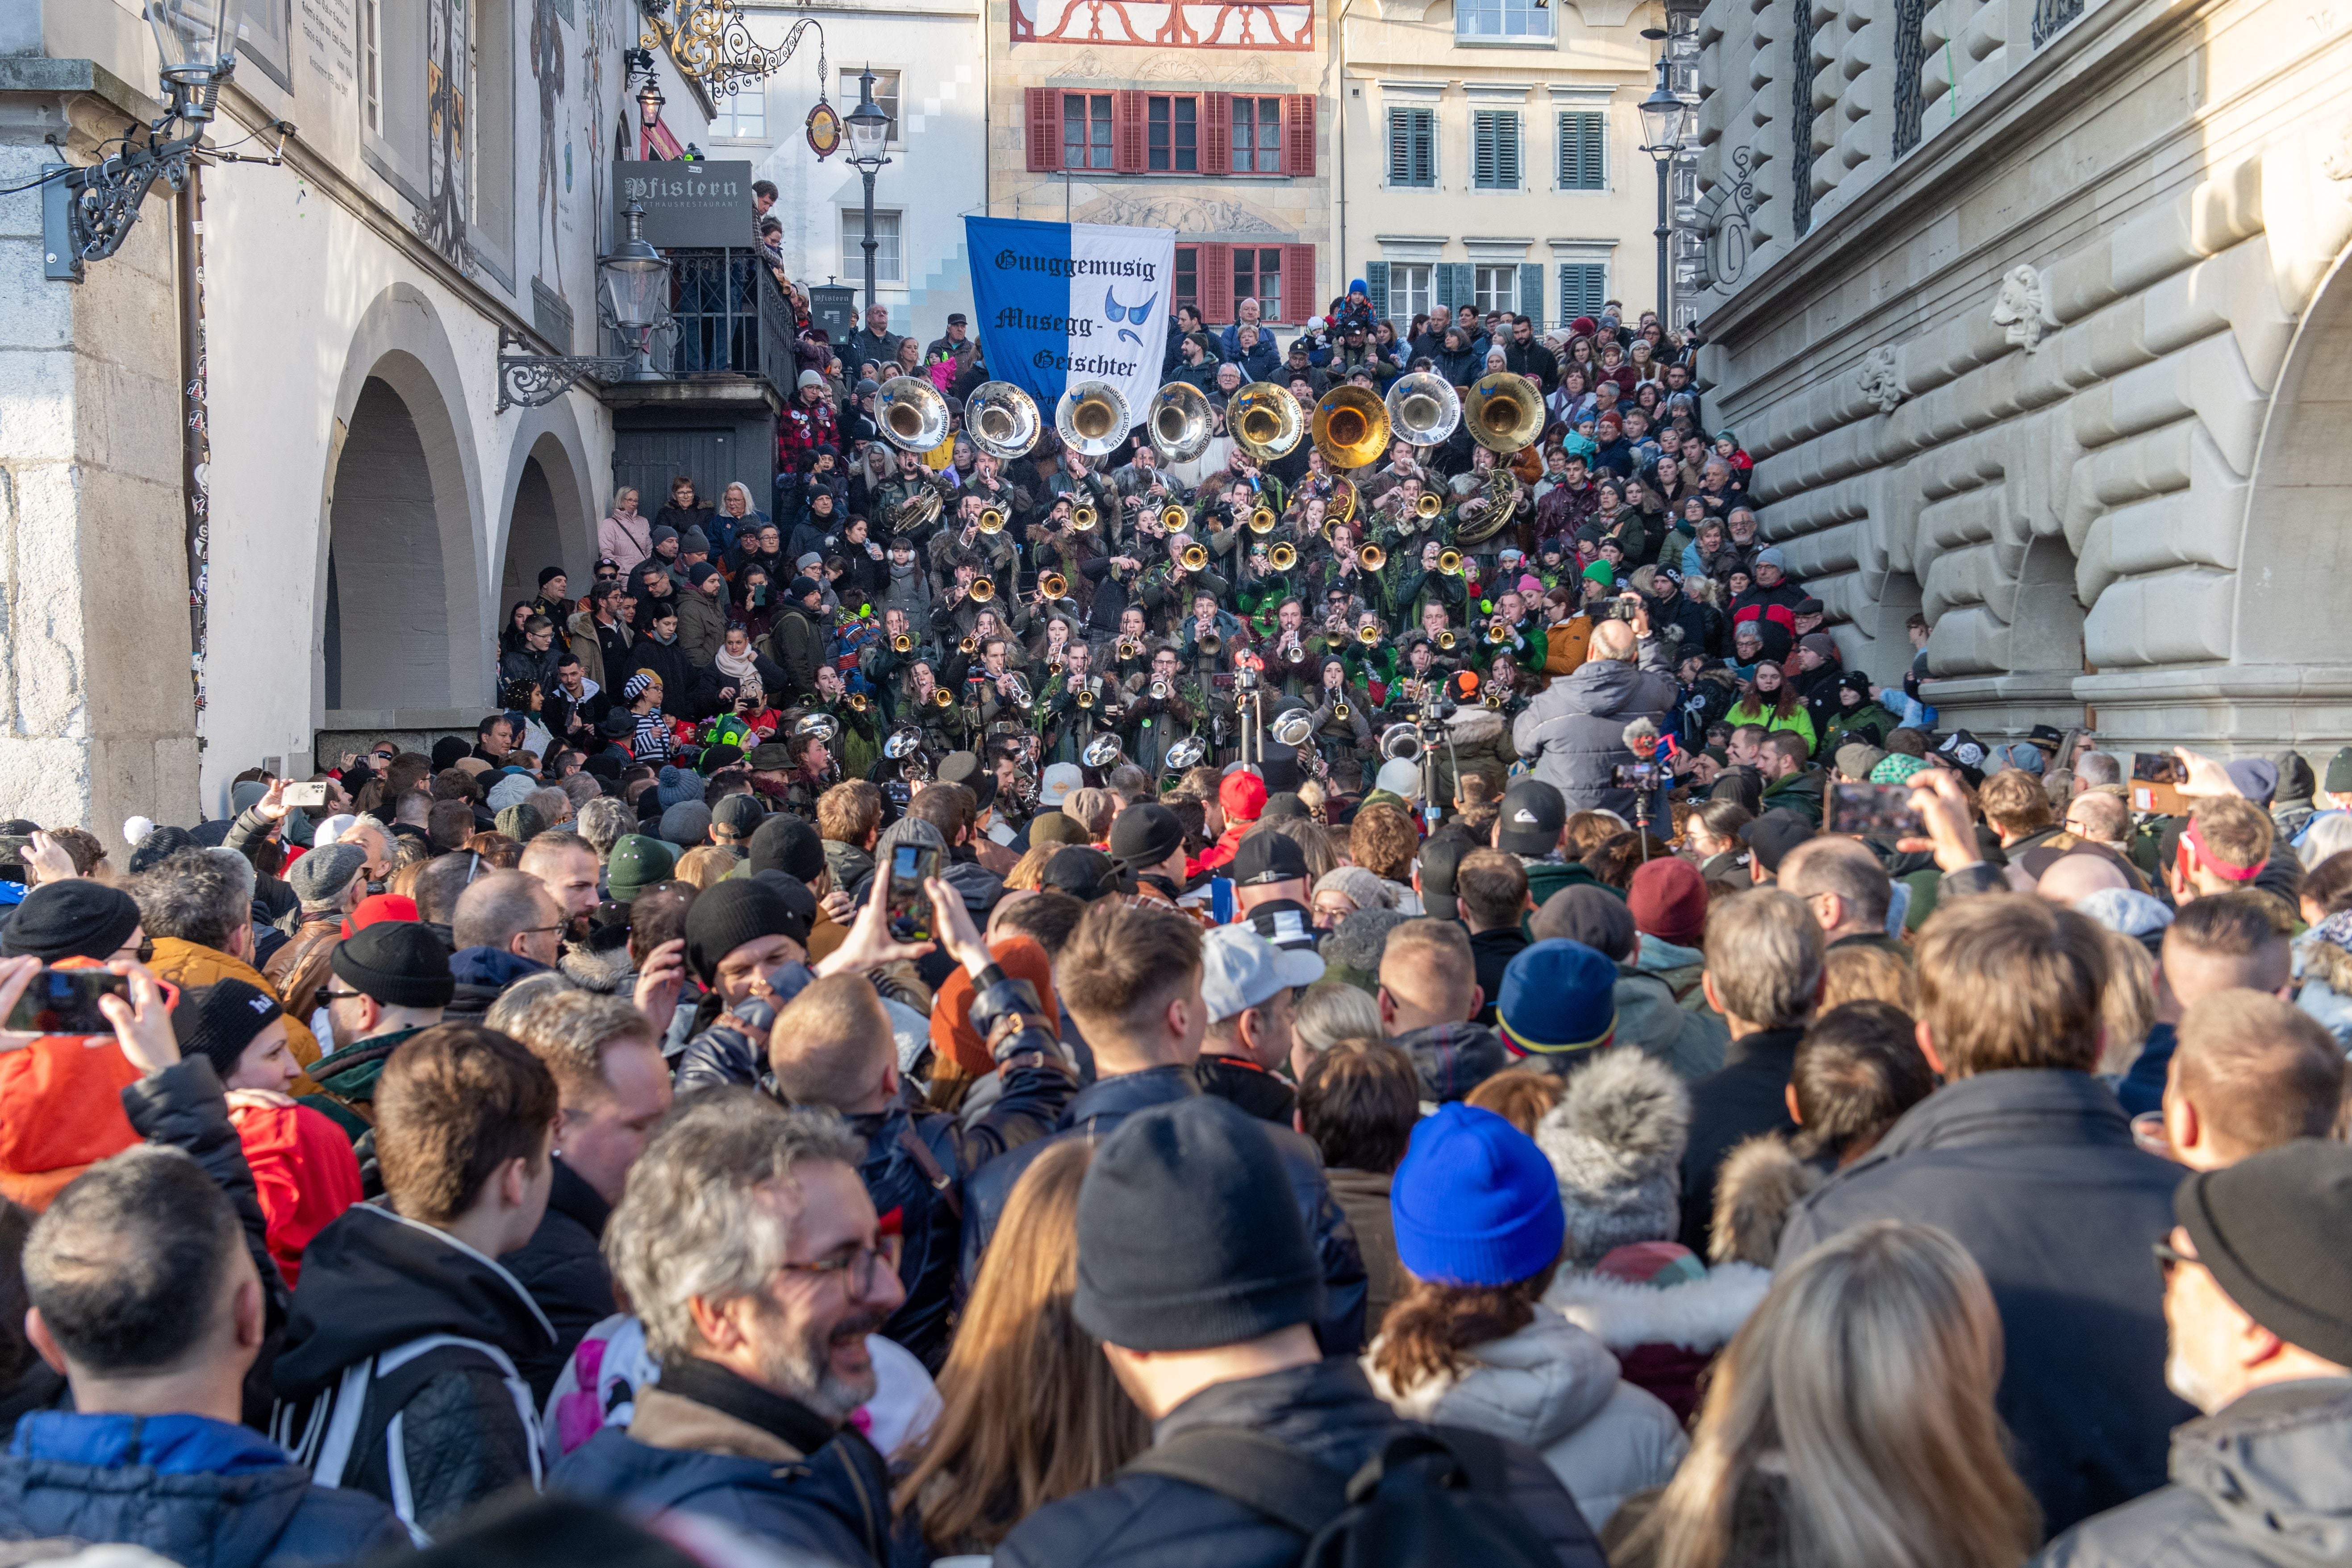
[[1160, 390], [1174, 228], [964, 219], [974, 329], [988, 374], [1037, 400], [1044, 423], [1077, 381], [1108, 381], [1134, 416]]

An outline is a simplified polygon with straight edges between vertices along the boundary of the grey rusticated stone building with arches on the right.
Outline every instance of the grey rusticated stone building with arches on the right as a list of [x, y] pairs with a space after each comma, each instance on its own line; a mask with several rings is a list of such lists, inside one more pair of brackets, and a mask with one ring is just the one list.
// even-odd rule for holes
[[1710, 421], [1945, 724], [2352, 738], [2352, 12], [1710, 0]]

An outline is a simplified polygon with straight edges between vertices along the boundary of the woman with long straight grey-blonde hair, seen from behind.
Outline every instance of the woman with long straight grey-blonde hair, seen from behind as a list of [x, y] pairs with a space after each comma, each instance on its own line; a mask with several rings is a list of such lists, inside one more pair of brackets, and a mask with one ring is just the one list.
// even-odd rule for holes
[[2042, 1514], [1992, 1389], [2002, 1319], [1933, 1225], [1785, 1265], [1708, 1385], [1682, 1472], [1604, 1533], [1616, 1568], [2016, 1568]]

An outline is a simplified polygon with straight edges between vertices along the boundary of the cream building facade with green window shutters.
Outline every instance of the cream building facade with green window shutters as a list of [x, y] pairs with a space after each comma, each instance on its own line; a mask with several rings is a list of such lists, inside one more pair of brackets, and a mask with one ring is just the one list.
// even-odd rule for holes
[[1355, 277], [1399, 329], [1430, 306], [1548, 324], [1656, 306], [1656, 165], [1635, 0], [1381, 0], [1338, 21]]

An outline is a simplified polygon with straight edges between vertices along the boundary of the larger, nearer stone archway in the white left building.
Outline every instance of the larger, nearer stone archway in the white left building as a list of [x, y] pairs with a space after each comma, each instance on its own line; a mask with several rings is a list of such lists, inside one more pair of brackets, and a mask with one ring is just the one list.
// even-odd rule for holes
[[313, 639], [327, 712], [437, 726], [489, 696], [482, 475], [463, 378], [433, 301], [367, 308], [334, 397]]

